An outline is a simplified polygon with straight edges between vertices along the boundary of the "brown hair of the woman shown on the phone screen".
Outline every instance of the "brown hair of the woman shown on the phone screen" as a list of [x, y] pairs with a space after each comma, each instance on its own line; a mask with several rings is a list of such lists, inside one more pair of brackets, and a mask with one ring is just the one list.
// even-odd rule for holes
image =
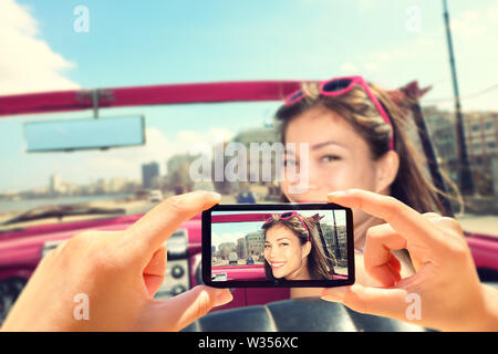
[[[307, 267], [311, 280], [332, 279], [332, 275], [334, 274], [333, 263], [335, 263], [335, 259], [326, 258], [323, 252], [323, 247], [326, 247], [326, 244], [322, 246], [321, 241], [318, 239], [318, 228], [315, 222], [319, 221], [315, 221], [313, 218], [303, 217], [302, 215], [299, 217], [304, 222], [308, 230], [310, 230], [311, 251], [310, 254], [308, 254]], [[302, 226], [299, 218], [293, 216], [289, 219], [281, 219], [279, 214], [274, 214], [271, 221], [264, 222], [261, 227], [263, 230], [264, 240], [267, 239], [267, 231], [276, 225], [282, 225], [291, 230], [299, 238], [301, 244], [308, 242], [308, 230]], [[277, 278], [273, 277], [271, 267], [266, 259], [264, 273], [267, 275], [267, 280], [277, 280]]]

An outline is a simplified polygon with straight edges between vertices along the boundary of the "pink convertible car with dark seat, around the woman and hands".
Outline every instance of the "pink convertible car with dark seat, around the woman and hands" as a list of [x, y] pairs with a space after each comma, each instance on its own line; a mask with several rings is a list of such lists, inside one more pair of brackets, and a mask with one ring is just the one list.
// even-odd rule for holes
[[[299, 87], [299, 81], [217, 82], [168, 84], [141, 87], [103, 88], [91, 92], [64, 91], [0, 97], [0, 116], [44, 114], [129, 106], [281, 101]], [[417, 95], [416, 83], [397, 94]], [[418, 107], [419, 108], [419, 107]], [[424, 142], [430, 174], [438, 167], [419, 110], [414, 111]], [[84, 216], [68, 220], [68, 216]], [[117, 209], [77, 207], [38, 207], [31, 212], [3, 221], [0, 229], [0, 322], [22, 291], [37, 264], [60, 242], [85, 230], [123, 230], [143, 212], [123, 215]], [[56, 222], [43, 223], [44, 218]], [[37, 223], [19, 223], [38, 220]], [[21, 225], [21, 226], [19, 226]], [[498, 236], [498, 235], [497, 235]], [[467, 233], [476, 267], [485, 282], [498, 281], [498, 238], [495, 235]], [[200, 269], [200, 216], [184, 222], [168, 240], [167, 274], [157, 299], [175, 296], [203, 283]], [[224, 267], [214, 268], [227, 273]], [[261, 277], [262, 266], [231, 266], [237, 277]], [[388, 319], [355, 313], [317, 299], [290, 299], [289, 289], [234, 289], [234, 301], [212, 310], [185, 331], [419, 331], [425, 330]], [[325, 315], [324, 315], [325, 314]]]

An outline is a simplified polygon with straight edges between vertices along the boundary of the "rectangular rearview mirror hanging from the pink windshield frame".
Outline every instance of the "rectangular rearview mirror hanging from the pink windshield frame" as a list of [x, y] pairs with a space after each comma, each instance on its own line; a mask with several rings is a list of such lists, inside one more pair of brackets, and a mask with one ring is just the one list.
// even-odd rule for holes
[[145, 144], [143, 116], [24, 124], [28, 153], [108, 149]]

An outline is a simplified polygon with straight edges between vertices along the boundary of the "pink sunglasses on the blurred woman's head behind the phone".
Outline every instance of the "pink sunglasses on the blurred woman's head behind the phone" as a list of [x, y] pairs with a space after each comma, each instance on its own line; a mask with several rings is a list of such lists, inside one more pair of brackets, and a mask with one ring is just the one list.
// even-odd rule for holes
[[[369, 85], [366, 84], [365, 80], [362, 76], [345, 76], [345, 77], [336, 77], [326, 81], [322, 81], [319, 84], [320, 94], [322, 96], [340, 96], [343, 95], [351, 90], [353, 90], [354, 86], [360, 85], [365, 91], [366, 95], [369, 96], [370, 101], [374, 104], [375, 108], [377, 110], [378, 114], [384, 118], [384, 121], [393, 127], [393, 124], [385, 112], [382, 104], [378, 102], [378, 100], [375, 97], [375, 95], [370, 90]], [[286, 97], [286, 106], [291, 106], [294, 103], [301, 101], [305, 97], [305, 94], [302, 90], [298, 90], [292, 92], [290, 95]], [[394, 129], [393, 129], [394, 133]], [[394, 134], [391, 135], [390, 139], [390, 150], [394, 149]]]

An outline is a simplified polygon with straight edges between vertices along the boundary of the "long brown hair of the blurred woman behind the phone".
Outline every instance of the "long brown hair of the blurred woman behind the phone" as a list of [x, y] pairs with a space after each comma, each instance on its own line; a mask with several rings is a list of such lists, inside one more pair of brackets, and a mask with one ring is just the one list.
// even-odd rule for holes
[[[281, 140], [286, 144], [286, 129], [293, 118], [312, 107], [323, 107], [345, 118], [369, 144], [373, 160], [390, 150], [391, 134], [394, 134], [394, 150], [400, 156], [400, 168], [391, 185], [391, 196], [419, 212], [437, 209], [443, 215], [450, 215], [438, 195], [455, 198], [437, 189], [424, 174], [422, 158], [406, 134], [408, 110], [415, 103], [414, 100], [405, 97], [403, 102], [394, 103], [386, 91], [372, 83], [369, 83], [369, 87], [386, 111], [392, 126], [378, 114], [361, 86], [340, 96], [323, 96], [317, 83], [303, 83], [304, 98], [291, 106], [281, 106], [276, 114], [276, 118], [281, 122]], [[445, 179], [452, 189], [458, 191], [449, 178]], [[282, 201], [289, 200], [282, 195]]]

